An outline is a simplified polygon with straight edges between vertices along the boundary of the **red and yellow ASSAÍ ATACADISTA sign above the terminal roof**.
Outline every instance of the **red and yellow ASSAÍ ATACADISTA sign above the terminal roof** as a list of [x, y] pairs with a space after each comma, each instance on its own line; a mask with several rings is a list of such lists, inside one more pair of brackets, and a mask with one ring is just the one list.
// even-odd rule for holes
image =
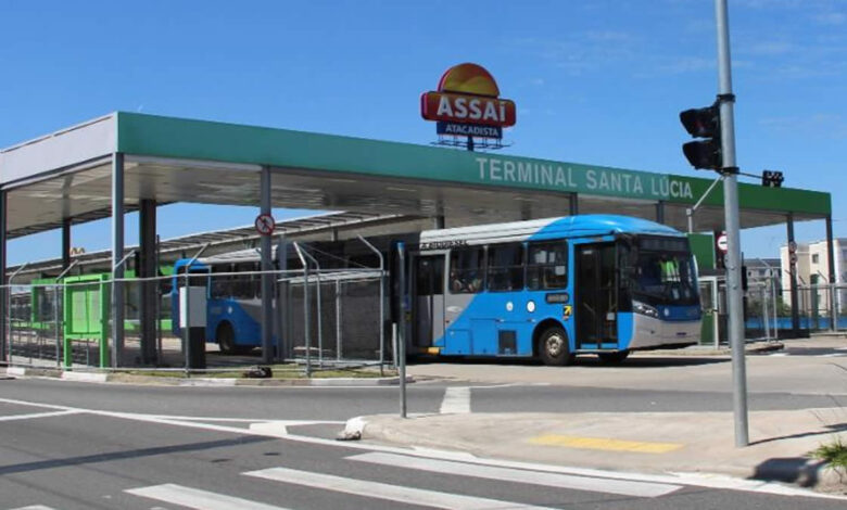
[[440, 135], [503, 138], [503, 128], [514, 126], [515, 102], [500, 99], [497, 82], [477, 64], [448, 68], [438, 91], [420, 95], [420, 115], [439, 123]]

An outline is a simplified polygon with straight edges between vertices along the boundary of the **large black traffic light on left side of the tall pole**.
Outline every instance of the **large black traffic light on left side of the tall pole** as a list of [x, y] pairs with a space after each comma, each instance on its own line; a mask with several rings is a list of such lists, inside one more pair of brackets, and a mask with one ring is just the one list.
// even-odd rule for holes
[[692, 109], [680, 112], [680, 122], [693, 138], [703, 138], [684, 143], [682, 152], [694, 168], [720, 170], [721, 157], [721, 113], [716, 102], [705, 109]]

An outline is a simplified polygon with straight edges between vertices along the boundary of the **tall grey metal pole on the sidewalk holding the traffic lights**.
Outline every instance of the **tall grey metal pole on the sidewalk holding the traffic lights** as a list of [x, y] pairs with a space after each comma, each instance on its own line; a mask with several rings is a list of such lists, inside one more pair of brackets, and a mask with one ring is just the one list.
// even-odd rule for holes
[[[721, 153], [723, 167], [736, 169], [735, 122], [733, 116], [732, 72], [730, 65], [730, 22], [726, 0], [715, 0], [718, 28], [718, 71], [721, 118]], [[747, 426], [747, 374], [744, 359], [744, 318], [742, 296], [742, 258], [738, 218], [738, 182], [735, 174], [723, 180], [724, 214], [726, 216], [726, 294], [730, 305], [730, 345], [732, 346], [733, 410], [735, 415], [735, 446], [749, 444]]]

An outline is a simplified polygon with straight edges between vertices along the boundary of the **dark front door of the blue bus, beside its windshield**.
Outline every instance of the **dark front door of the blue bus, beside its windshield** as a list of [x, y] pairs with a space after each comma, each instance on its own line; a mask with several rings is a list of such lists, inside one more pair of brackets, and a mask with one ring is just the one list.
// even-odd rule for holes
[[[618, 343], [615, 243], [578, 244], [576, 268], [577, 348]], [[610, 347], [607, 345], [607, 347]]]

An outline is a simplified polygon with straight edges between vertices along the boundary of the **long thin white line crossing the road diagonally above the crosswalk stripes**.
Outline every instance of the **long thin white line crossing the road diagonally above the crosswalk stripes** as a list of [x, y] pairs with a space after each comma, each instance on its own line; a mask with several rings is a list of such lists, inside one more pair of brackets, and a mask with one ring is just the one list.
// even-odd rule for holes
[[[444, 457], [452, 459], [455, 458], [454, 456], [456, 455], [456, 454], [450, 454], [447, 456], [442, 456], [442, 454], [438, 450], [421, 450], [415, 452], [409, 448], [397, 447], [397, 446], [381, 446], [381, 445], [363, 444], [356, 442], [339, 443], [338, 441], [325, 439], [323, 437], [309, 437], [309, 436], [302, 436], [302, 435], [288, 434], [288, 433], [276, 433], [271, 431], [257, 432], [257, 431], [251, 431], [245, 428], [215, 425], [211, 423], [192, 423], [187, 421], [165, 419], [164, 417], [156, 418], [148, 415], [134, 415], [129, 412], [113, 412], [113, 411], [102, 411], [99, 409], [56, 406], [54, 404], [41, 404], [41, 403], [34, 403], [27, 400], [17, 400], [13, 398], [0, 398], [0, 403], [16, 404], [21, 406], [30, 406], [30, 407], [42, 407], [46, 409], [76, 410], [92, 416], [105, 416], [112, 418], [119, 418], [124, 420], [161, 423], [167, 425], [184, 426], [190, 429], [201, 429], [201, 430], [208, 430], [215, 432], [229, 432], [232, 434], [277, 437], [280, 439], [295, 441], [298, 443], [323, 445], [323, 446], [329, 446], [336, 448], [349, 448], [349, 449], [358, 449], [365, 451], [385, 451], [385, 452], [400, 454], [400, 455], [412, 454], [418, 457], [435, 458], [435, 459], [444, 458]], [[468, 457], [470, 456], [468, 455]], [[617, 471], [606, 471], [602, 469], [576, 468], [570, 466], [552, 466], [552, 464], [542, 464], [535, 462], [521, 462], [515, 460], [498, 460], [498, 459], [478, 459], [478, 460], [467, 459], [467, 462], [473, 462], [480, 466], [500, 466], [506, 468], [524, 469], [524, 470], [532, 470], [532, 471], [546, 472], [546, 473], [565, 473], [565, 474], [574, 474], [579, 476], [597, 476], [597, 477], [610, 479], [610, 480], [632, 480], [632, 481], [656, 482], [656, 483], [667, 483], [667, 484], [684, 484], [684, 485], [696, 486], [696, 487], [723, 488], [730, 490], [745, 490], [745, 492], [762, 493], [762, 494], [785, 495], [786, 490], [789, 490], [794, 496], [802, 496], [808, 498], [838, 499], [838, 500], [847, 501], [847, 497], [845, 496], [826, 495], [826, 494], [816, 493], [813, 490], [779, 485], [775, 483], [760, 482], [755, 480], [733, 479], [731, 476], [715, 475], [709, 473], [669, 473], [669, 474], [622, 473]]]

